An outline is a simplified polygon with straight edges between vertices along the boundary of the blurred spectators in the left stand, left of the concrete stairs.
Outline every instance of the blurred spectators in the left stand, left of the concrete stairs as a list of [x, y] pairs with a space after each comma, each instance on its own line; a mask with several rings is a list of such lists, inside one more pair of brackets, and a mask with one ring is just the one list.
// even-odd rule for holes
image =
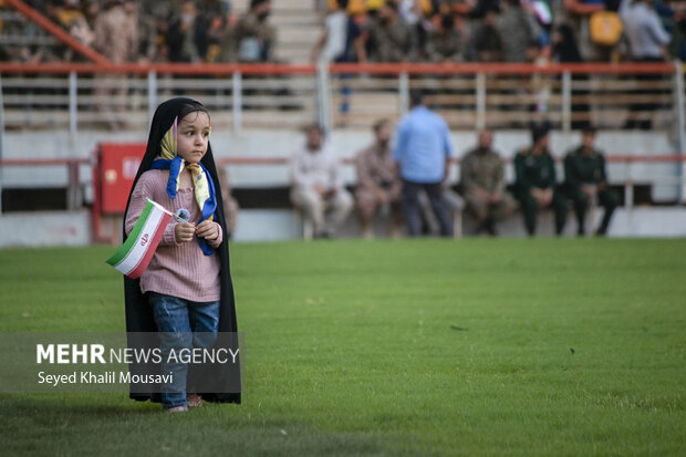
[[[276, 28], [270, 0], [251, 0], [237, 14], [230, 0], [31, 0], [73, 38], [115, 63], [270, 62]], [[39, 33], [8, 23], [4, 34]], [[30, 25], [34, 27], [34, 25]], [[113, 30], [116, 32], [113, 33]], [[20, 62], [64, 62], [85, 58], [59, 43], [0, 45], [0, 58]]]

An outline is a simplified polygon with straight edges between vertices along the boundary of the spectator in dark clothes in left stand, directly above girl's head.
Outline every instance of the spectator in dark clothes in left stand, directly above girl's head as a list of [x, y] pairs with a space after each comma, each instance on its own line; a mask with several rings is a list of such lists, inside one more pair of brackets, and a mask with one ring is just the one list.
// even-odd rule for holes
[[198, 14], [194, 0], [185, 0], [180, 15], [172, 19], [166, 43], [169, 46], [169, 62], [196, 63], [205, 59], [207, 24]]

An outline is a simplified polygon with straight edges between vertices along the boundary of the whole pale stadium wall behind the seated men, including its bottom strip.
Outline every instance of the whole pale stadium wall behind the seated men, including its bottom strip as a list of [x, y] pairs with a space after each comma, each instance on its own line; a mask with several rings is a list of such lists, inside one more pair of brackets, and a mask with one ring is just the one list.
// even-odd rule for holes
[[[3, 137], [3, 158], [83, 158], [90, 157], [101, 142], [144, 142], [146, 133], [129, 132], [89, 132], [83, 131], [76, 137], [69, 132], [6, 132]], [[303, 142], [303, 135], [294, 131], [246, 131], [240, 135], [217, 132], [212, 134], [212, 147], [218, 157], [288, 157]], [[355, 152], [372, 141], [370, 131], [333, 132], [329, 143], [342, 158], [354, 156]], [[454, 132], [453, 144], [457, 156], [475, 145], [474, 132]], [[529, 144], [527, 132], [497, 132], [495, 146], [505, 157], [513, 156], [516, 149]], [[551, 138], [552, 150], [562, 155], [579, 142], [579, 134], [554, 132]], [[674, 154], [671, 137], [664, 133], [644, 132], [601, 132], [597, 145], [612, 155], [666, 155]], [[634, 163], [631, 165], [635, 183], [647, 183], [652, 191], [652, 201], [669, 204], [679, 195], [674, 181], [662, 178], [678, 178], [680, 164]], [[1, 169], [4, 188], [54, 188], [67, 183], [66, 167], [11, 167]], [[626, 173], [625, 164], [609, 166], [611, 181], [622, 184]], [[512, 169], [508, 166], [508, 180], [511, 181]], [[240, 165], [229, 168], [233, 189], [250, 193], [252, 189], [288, 186], [288, 169], [283, 165]], [[347, 165], [343, 175], [347, 185], [354, 184], [354, 169]], [[451, 180], [457, 181], [458, 169], [451, 170]], [[92, 201], [91, 168], [81, 167], [81, 184], [84, 199]], [[596, 211], [595, 218], [601, 216]], [[541, 218], [541, 235], [552, 233], [550, 215]], [[118, 231], [116, 220], [111, 221], [111, 230]], [[25, 227], [37, 228], [28, 232]], [[383, 224], [376, 231], [384, 232]], [[567, 232], [573, 235], [575, 222], [570, 211]], [[500, 229], [505, 236], [523, 236], [519, 214], [505, 221]], [[291, 209], [241, 209], [236, 241], [270, 241], [297, 239], [302, 235], [302, 221]], [[351, 216], [342, 230], [342, 236], [354, 237], [357, 228]], [[617, 209], [610, 236], [619, 237], [684, 237], [686, 236], [686, 208], [683, 206], [634, 207]], [[87, 209], [77, 211], [32, 211], [8, 212], [0, 216], [0, 247], [8, 246], [80, 246], [91, 242], [91, 217]]]

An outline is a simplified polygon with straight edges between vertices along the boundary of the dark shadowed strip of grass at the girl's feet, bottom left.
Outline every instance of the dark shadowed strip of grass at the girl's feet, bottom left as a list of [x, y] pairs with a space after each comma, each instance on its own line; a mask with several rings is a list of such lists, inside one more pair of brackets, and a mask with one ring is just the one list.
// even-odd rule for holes
[[[209, 404], [164, 414], [118, 395], [0, 395], [4, 455], [418, 455], [399, 436], [330, 432], [285, 417]], [[7, 454], [6, 454], [7, 453]], [[426, 453], [422, 453], [426, 455]]]

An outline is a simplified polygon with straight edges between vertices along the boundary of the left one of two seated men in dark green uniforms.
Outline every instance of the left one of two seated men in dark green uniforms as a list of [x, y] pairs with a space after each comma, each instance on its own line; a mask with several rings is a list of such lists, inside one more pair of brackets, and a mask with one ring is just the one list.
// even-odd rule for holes
[[521, 204], [529, 236], [536, 233], [539, 208], [551, 207], [555, 214], [555, 233], [561, 235], [567, 221], [567, 198], [557, 190], [555, 163], [548, 149], [548, 127], [531, 131], [533, 145], [514, 156], [516, 197]]

